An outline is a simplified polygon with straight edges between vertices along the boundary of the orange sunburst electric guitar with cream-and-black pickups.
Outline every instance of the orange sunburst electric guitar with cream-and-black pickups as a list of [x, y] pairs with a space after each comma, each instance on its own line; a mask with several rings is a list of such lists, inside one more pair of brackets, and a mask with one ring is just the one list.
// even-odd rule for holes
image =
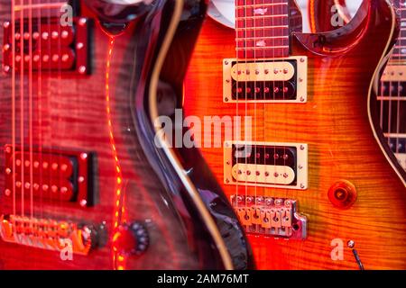
[[235, 30], [205, 21], [184, 82], [186, 114], [211, 121], [202, 154], [258, 268], [404, 269], [406, 184], [367, 110], [394, 9], [365, 0], [346, 26], [311, 34], [298, 14], [237, 0]]

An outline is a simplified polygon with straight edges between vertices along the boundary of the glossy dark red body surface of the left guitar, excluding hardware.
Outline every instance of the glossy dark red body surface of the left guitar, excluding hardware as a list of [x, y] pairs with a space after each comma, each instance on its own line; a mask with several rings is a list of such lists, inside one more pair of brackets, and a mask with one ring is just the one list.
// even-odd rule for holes
[[[22, 1], [0, 1], [2, 23], [10, 21], [12, 3], [23, 4]], [[93, 23], [92, 37], [88, 39], [91, 45], [91, 72], [78, 76], [43, 69], [41, 74], [32, 73], [32, 78], [28, 73], [15, 73], [15, 89], [12, 83], [13, 73], [2, 73], [0, 143], [4, 146], [15, 142], [16, 146], [20, 146], [23, 140], [23, 146], [29, 150], [58, 148], [60, 151], [93, 152], [95, 169], [88, 176], [93, 177], [96, 183], [97, 202], [90, 207], [81, 207], [78, 201], [64, 202], [61, 199], [46, 200], [42, 196], [31, 197], [28, 189], [24, 195], [15, 194], [14, 208], [13, 194], [5, 195], [5, 157], [2, 153], [0, 214], [15, 213], [28, 218], [33, 216], [67, 220], [94, 226], [104, 223], [106, 237], [99, 238], [100, 243], [104, 244], [95, 247], [88, 256], [75, 254], [72, 259], [66, 259], [61, 257], [58, 251], [0, 240], [0, 268], [224, 267], [203, 222], [198, 217], [191, 218], [191, 215], [198, 215], [198, 212], [193, 211], [190, 201], [181, 193], [171, 193], [150, 166], [139, 142], [142, 133], [137, 131], [138, 124], [133, 117], [134, 110], [137, 109], [134, 91], [144, 89], [145, 83], [140, 85], [140, 78], [145, 77], [141, 72], [147, 73], [144, 71], [152, 69], [159, 47], [156, 44], [165, 35], [173, 12], [173, 2], [156, 1], [152, 7], [143, 6], [142, 10], [135, 10], [139, 18], [135, 18], [131, 23], [110, 17], [107, 19], [110, 23], [115, 20], [117, 23], [113, 26], [105, 25], [108, 31], [98, 21], [104, 19], [102, 15], [95, 14], [97, 10], [102, 9], [89, 9], [82, 1], [77, 4], [81, 8], [80, 15], [88, 17], [88, 21]], [[192, 4], [187, 7], [203, 6]], [[198, 11], [195, 10], [195, 13]], [[42, 17], [47, 17], [47, 13], [48, 9], [43, 9]], [[19, 15], [16, 14], [16, 19]], [[32, 10], [32, 16], [39, 17], [38, 11]], [[105, 19], [104, 22], [106, 23]], [[111, 33], [112, 31], [114, 33]], [[3, 37], [2, 29], [2, 43]], [[144, 62], [145, 58], [150, 61]], [[4, 60], [2, 58], [2, 61]], [[32, 121], [29, 120], [29, 115], [32, 116]], [[151, 139], [144, 140], [152, 143]], [[43, 178], [46, 178], [46, 175]], [[179, 207], [182, 207], [181, 211]], [[114, 247], [118, 251], [128, 251], [128, 246], [130, 245], [131, 250], [131, 245], [134, 245], [132, 238], [125, 241], [126, 238], [117, 237], [115, 227], [135, 220], [143, 223], [148, 231], [148, 249], [139, 256], [115, 253]]]

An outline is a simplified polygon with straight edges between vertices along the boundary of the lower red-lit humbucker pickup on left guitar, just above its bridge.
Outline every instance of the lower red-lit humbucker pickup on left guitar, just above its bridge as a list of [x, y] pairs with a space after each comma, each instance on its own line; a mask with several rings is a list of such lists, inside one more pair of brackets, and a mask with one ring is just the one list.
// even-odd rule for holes
[[[5, 195], [33, 197], [93, 206], [96, 202], [94, 154], [38, 148], [23, 152], [5, 146]], [[15, 171], [13, 170], [15, 169]], [[31, 175], [32, 174], [32, 175]]]

